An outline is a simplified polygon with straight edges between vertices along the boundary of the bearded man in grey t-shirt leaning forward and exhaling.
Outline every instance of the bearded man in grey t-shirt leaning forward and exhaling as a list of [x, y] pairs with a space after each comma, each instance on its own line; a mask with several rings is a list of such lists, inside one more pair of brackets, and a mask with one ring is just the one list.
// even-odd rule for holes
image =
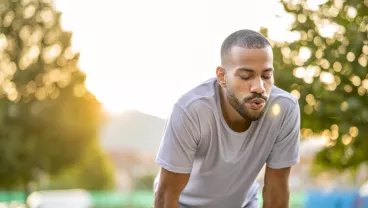
[[157, 155], [155, 208], [259, 207], [255, 179], [265, 164], [263, 207], [288, 207], [300, 112], [273, 73], [262, 35], [240, 30], [225, 39], [216, 78], [172, 109]]

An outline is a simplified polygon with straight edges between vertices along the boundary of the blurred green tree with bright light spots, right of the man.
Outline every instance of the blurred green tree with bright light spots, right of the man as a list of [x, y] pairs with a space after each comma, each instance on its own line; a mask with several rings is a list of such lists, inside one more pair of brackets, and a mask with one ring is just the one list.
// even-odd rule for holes
[[282, 1], [300, 39], [272, 43], [275, 82], [299, 98], [302, 137], [328, 140], [316, 164], [354, 169], [368, 161], [368, 1], [324, 2]]

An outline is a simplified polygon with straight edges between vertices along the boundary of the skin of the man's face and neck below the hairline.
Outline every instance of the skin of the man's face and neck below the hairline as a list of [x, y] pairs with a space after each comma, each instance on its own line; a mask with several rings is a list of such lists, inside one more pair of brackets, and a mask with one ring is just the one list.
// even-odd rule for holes
[[223, 66], [216, 69], [221, 87], [222, 113], [234, 131], [245, 131], [259, 119], [264, 107], [253, 109], [251, 101], [266, 102], [274, 84], [271, 47], [245, 49], [233, 47]]

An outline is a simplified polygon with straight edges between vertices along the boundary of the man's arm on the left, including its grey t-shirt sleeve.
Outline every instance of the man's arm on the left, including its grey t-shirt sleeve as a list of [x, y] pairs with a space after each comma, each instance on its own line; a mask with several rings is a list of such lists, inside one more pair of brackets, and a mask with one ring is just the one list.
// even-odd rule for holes
[[189, 180], [200, 139], [193, 109], [174, 105], [161, 141], [156, 162], [161, 166], [155, 191], [155, 208], [177, 208]]

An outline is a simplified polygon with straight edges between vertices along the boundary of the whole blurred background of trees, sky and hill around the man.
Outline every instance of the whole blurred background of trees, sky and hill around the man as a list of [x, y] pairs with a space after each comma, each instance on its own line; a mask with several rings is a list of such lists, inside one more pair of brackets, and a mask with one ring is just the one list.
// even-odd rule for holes
[[171, 106], [244, 28], [299, 99], [290, 207], [368, 207], [367, 0], [0, 0], [0, 207], [151, 207]]

